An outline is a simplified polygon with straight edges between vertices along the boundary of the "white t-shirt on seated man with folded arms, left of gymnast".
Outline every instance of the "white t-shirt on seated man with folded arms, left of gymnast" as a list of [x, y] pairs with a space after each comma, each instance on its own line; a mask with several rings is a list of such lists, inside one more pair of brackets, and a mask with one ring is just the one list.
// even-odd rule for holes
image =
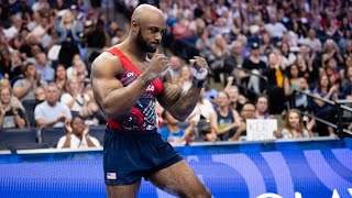
[[[47, 101], [44, 101], [44, 102], [40, 103], [38, 106], [36, 106], [34, 109], [35, 120], [43, 119], [46, 122], [55, 121], [55, 120], [57, 120], [57, 118], [59, 118], [63, 114], [69, 119], [73, 118], [67, 106], [65, 106], [61, 102], [56, 102], [55, 107], [52, 107], [47, 103]], [[63, 128], [64, 125], [65, 125], [64, 122], [57, 122], [53, 125], [53, 128]]]

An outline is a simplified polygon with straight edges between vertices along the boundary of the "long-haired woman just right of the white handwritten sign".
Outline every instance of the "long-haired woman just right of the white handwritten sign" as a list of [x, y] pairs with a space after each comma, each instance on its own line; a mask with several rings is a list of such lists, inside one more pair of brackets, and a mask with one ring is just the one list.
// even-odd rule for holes
[[300, 112], [292, 109], [287, 112], [285, 129], [274, 131], [274, 135], [277, 139], [311, 138], [311, 132], [306, 129]]

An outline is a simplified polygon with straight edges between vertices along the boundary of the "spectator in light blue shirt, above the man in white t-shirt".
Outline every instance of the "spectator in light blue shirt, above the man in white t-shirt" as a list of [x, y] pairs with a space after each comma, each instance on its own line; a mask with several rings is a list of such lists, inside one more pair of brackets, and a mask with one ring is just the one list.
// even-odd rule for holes
[[41, 79], [52, 82], [54, 81], [55, 72], [50, 66], [50, 63], [47, 62], [46, 54], [45, 53], [38, 53], [36, 55], [36, 72], [41, 75]]

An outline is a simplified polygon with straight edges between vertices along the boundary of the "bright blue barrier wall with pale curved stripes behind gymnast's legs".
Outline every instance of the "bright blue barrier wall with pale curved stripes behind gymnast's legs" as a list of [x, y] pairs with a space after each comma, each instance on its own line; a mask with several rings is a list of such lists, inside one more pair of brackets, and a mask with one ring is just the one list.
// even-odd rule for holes
[[[176, 150], [213, 197], [337, 198], [352, 197], [351, 145], [345, 139]], [[106, 197], [101, 158], [101, 151], [0, 155], [0, 197]], [[143, 180], [139, 197], [170, 196]]]

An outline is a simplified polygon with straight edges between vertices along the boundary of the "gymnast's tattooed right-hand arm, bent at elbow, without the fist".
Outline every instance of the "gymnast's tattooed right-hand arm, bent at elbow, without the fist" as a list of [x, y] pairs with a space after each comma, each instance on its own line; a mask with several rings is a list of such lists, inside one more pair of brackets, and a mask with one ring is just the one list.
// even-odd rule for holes
[[167, 74], [164, 89], [157, 100], [175, 119], [185, 121], [198, 102], [200, 88], [191, 86], [187, 92], [183, 94], [180, 88], [170, 81], [172, 77]]

